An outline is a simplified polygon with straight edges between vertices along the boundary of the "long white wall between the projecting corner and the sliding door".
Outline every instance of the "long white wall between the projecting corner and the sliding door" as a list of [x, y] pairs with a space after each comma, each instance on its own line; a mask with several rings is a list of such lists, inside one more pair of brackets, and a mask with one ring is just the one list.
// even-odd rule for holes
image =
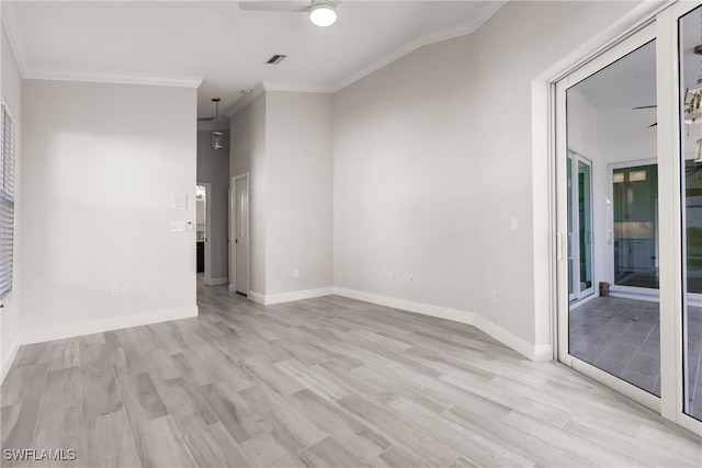
[[548, 288], [533, 236], [548, 231], [532, 224], [547, 209], [532, 201], [532, 80], [633, 7], [509, 2], [338, 92], [335, 285], [473, 312], [533, 344]]

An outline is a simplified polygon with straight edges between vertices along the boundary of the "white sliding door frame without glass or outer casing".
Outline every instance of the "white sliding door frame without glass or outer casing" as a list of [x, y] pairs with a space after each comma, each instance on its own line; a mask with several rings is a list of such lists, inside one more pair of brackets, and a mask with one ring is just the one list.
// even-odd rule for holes
[[[614, 391], [649, 408], [669, 421], [700, 435], [702, 423], [683, 413], [682, 362], [682, 226], [678, 20], [698, 2], [668, 2], [644, 14], [638, 22], [613, 34], [610, 42], [580, 60], [574, 60], [553, 79], [551, 85], [551, 167], [554, 169], [551, 206], [555, 227], [552, 284], [555, 283], [554, 356], [576, 370], [595, 378]], [[566, 90], [593, 72], [616, 61], [652, 39], [656, 39], [657, 162], [659, 219], [660, 301], [660, 398], [614, 377], [569, 354], [568, 350], [568, 259], [567, 187], [565, 186]], [[601, 237], [600, 237], [601, 239]]]

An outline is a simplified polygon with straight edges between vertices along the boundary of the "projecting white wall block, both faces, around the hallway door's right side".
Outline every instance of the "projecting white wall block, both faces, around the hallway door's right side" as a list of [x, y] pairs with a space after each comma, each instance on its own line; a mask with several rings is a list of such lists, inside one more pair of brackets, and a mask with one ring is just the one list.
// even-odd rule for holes
[[271, 304], [329, 293], [331, 96], [269, 91], [230, 122], [230, 175], [250, 172], [250, 297]]

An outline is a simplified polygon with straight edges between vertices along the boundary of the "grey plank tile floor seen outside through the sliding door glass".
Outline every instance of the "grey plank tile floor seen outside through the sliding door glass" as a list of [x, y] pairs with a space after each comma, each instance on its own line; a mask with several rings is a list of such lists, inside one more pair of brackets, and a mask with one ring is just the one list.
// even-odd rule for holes
[[[659, 305], [597, 297], [570, 309], [570, 354], [660, 397]], [[702, 308], [688, 310], [690, 414], [702, 420]]]

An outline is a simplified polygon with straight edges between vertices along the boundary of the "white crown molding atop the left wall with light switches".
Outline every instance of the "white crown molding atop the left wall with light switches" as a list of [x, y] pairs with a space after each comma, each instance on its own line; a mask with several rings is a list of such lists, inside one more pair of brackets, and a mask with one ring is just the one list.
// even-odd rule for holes
[[26, 80], [80, 81], [109, 84], [146, 84], [155, 87], [200, 88], [201, 77], [169, 77], [146, 73], [104, 73], [87, 70], [64, 70], [60, 68], [22, 68], [22, 78]]

